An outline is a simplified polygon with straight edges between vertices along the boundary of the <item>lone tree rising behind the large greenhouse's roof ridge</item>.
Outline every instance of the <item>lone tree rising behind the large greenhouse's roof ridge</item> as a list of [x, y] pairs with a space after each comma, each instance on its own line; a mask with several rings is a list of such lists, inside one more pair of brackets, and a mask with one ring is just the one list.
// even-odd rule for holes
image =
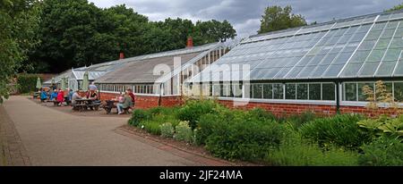
[[258, 33], [262, 34], [274, 30], [289, 29], [306, 25], [306, 21], [301, 14], [292, 13], [292, 7], [287, 5], [269, 6], [264, 11], [261, 20], [261, 29]]

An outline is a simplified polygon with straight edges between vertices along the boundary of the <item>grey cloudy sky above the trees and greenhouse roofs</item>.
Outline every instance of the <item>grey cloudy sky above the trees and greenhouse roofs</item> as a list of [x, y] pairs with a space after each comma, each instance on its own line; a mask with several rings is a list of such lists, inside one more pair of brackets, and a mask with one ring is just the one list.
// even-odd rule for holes
[[99, 7], [126, 4], [134, 11], [163, 21], [168, 17], [192, 21], [230, 21], [241, 37], [256, 34], [263, 10], [269, 5], [291, 5], [306, 21], [323, 22], [379, 13], [403, 0], [89, 0]]

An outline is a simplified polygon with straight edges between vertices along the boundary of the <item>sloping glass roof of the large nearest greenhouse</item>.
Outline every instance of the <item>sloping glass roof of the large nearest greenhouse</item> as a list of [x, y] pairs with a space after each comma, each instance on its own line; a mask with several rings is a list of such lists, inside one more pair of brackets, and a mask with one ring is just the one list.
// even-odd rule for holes
[[403, 12], [364, 15], [252, 36], [191, 81], [403, 76], [402, 50]]

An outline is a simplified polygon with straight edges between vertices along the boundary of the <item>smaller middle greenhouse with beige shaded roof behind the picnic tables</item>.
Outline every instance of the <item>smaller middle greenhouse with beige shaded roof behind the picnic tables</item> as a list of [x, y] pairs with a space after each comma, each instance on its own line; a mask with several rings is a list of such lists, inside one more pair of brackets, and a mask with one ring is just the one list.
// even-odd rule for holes
[[[201, 71], [210, 63], [214, 63], [227, 53], [227, 46], [213, 43], [203, 46], [187, 46], [184, 49], [147, 54], [124, 59], [123, 67], [107, 72], [95, 83], [99, 85], [100, 97], [107, 99], [116, 96], [126, 89], [133, 89], [138, 98], [150, 100], [155, 104], [161, 96], [177, 96], [172, 103], [183, 96], [183, 83]], [[199, 68], [195, 70], [195, 68]], [[146, 99], [148, 97], [148, 99]], [[140, 99], [137, 99], [139, 102]], [[137, 104], [139, 106], [140, 104]]]

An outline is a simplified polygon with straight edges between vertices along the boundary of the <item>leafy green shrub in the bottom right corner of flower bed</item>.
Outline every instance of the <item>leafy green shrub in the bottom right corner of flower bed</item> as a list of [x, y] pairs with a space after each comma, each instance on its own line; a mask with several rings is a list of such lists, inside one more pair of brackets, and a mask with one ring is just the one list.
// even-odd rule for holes
[[372, 143], [362, 146], [364, 154], [358, 163], [365, 166], [403, 166], [403, 143], [391, 136], [376, 138]]

